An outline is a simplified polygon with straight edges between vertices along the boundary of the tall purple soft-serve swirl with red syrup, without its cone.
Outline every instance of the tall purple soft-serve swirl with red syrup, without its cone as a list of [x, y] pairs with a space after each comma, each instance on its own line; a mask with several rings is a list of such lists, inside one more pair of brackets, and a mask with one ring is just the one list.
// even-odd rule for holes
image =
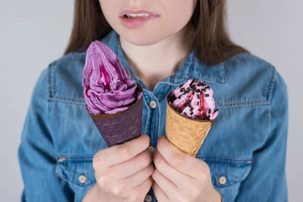
[[87, 50], [82, 86], [87, 109], [94, 115], [124, 111], [143, 94], [117, 55], [100, 41]]

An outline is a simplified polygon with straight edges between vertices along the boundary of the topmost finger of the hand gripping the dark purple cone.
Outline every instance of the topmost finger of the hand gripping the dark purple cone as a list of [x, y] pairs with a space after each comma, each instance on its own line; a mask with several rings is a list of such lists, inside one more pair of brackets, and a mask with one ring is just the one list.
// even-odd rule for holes
[[126, 162], [140, 154], [149, 146], [150, 138], [147, 135], [140, 135], [124, 144], [101, 149], [94, 156], [94, 162], [105, 167], [111, 167]]

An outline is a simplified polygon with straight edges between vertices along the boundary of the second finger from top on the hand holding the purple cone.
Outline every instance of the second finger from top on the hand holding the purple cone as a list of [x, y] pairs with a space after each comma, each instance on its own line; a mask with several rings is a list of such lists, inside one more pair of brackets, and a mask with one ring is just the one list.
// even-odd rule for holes
[[148, 166], [153, 161], [149, 150], [144, 150], [134, 158], [109, 168], [109, 175], [116, 179], [129, 177]]

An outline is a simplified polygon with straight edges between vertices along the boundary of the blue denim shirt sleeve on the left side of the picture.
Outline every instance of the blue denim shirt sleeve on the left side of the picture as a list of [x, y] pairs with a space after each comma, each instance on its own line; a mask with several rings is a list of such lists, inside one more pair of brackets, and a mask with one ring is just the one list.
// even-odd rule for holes
[[54, 141], [47, 124], [46, 75], [44, 70], [34, 87], [18, 151], [24, 182], [21, 201], [73, 201], [68, 183], [55, 174]]

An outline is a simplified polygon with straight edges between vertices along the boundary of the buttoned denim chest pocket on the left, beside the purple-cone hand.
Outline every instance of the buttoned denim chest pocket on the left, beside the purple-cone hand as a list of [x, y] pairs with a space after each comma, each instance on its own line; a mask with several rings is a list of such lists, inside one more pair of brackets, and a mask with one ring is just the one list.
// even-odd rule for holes
[[60, 157], [57, 159], [56, 175], [68, 182], [75, 193], [75, 199], [84, 197], [96, 182], [92, 158], [93, 156]]

